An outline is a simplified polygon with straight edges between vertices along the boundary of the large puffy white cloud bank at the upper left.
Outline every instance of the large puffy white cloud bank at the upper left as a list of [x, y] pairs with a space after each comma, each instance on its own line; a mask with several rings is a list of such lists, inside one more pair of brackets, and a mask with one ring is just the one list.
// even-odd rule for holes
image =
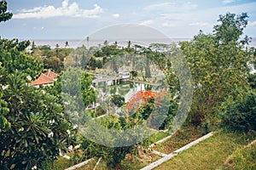
[[102, 14], [103, 9], [94, 4], [92, 9], [79, 8], [78, 3], [68, 3], [68, 0], [63, 0], [62, 6], [55, 8], [52, 5], [44, 7], [36, 7], [32, 9], [22, 9], [19, 14], [14, 14], [14, 19], [26, 19], [26, 18], [50, 18], [56, 16], [71, 16], [71, 17], [84, 17], [84, 18], [96, 18], [99, 14]]

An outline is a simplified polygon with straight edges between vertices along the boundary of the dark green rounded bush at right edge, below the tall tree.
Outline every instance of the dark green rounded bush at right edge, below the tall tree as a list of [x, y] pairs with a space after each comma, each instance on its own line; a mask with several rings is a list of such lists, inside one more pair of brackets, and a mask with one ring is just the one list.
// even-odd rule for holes
[[235, 99], [227, 99], [220, 111], [221, 127], [235, 132], [256, 130], [256, 93], [248, 91]]

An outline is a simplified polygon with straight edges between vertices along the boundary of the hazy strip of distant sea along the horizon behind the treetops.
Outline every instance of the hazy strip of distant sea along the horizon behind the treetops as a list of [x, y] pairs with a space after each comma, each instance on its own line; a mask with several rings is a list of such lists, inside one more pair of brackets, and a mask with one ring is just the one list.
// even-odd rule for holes
[[[182, 42], [182, 41], [189, 41], [191, 38], [171, 38], [171, 39], [144, 39], [144, 40], [131, 40], [131, 44], [139, 44], [148, 46], [150, 43], [171, 43], [171, 42]], [[89, 40], [87, 42], [84, 40], [29, 40], [30, 42], [35, 42], [36, 46], [42, 46], [42, 45], [49, 45], [50, 48], [55, 48], [56, 44], [59, 45], [60, 48], [64, 48], [66, 45], [66, 42], [68, 42], [69, 48], [77, 48], [81, 46], [85, 47], [101, 47], [104, 44], [105, 40]], [[117, 41], [119, 46], [127, 46], [127, 42], [129, 40], [125, 41]], [[115, 40], [108, 40], [108, 44], [113, 44]], [[253, 37], [253, 39], [250, 42], [250, 46], [256, 48], [256, 37]]]

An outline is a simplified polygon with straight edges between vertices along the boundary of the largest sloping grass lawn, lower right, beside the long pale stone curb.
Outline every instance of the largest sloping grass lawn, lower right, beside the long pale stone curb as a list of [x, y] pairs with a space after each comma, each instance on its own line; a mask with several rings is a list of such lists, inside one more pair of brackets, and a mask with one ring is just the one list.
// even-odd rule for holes
[[224, 161], [234, 150], [244, 147], [253, 139], [254, 134], [218, 132], [199, 144], [183, 151], [155, 170], [163, 169], [222, 169]]

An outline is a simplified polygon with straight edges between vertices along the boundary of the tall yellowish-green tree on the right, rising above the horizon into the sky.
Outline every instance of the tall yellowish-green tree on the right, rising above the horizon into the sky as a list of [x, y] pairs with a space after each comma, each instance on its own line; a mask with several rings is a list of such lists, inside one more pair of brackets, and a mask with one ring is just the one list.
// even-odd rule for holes
[[[191, 42], [182, 42], [183, 54], [189, 62], [194, 84], [192, 122], [210, 121], [214, 108], [229, 95], [236, 95], [236, 89], [248, 89], [247, 62], [251, 54], [241, 39], [247, 26], [247, 14], [220, 15], [219, 25], [213, 34], [202, 31]], [[215, 114], [216, 116], [216, 114]]]

